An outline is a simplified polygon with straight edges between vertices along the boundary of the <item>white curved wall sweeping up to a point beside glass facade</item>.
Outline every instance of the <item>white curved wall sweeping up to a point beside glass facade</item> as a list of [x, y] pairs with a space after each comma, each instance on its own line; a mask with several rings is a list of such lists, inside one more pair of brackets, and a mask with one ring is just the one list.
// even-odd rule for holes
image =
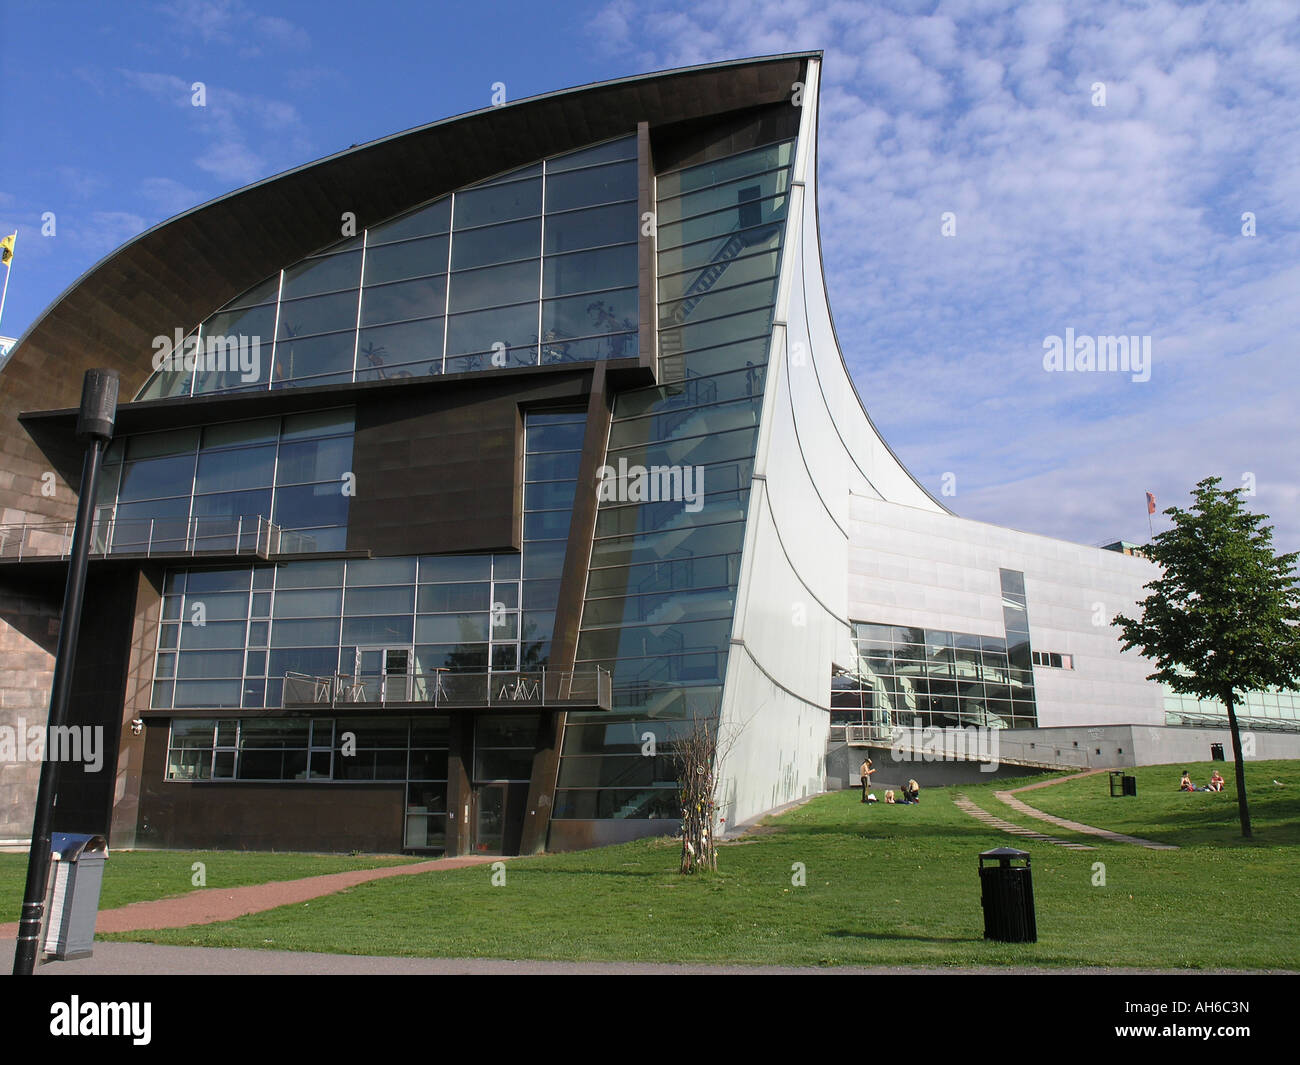
[[809, 62], [722, 709], [733, 826], [822, 791], [832, 663], [850, 664], [850, 495], [945, 511], [875, 432], [826, 302], [816, 226], [819, 64]]

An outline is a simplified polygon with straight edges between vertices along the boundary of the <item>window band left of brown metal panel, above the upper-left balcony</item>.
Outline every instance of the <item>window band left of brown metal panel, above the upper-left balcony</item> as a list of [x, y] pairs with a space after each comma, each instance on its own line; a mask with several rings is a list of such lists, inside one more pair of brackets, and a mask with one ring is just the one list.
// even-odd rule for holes
[[104, 459], [96, 546], [254, 550], [270, 521], [277, 551], [343, 550], [352, 421], [341, 408], [118, 438]]

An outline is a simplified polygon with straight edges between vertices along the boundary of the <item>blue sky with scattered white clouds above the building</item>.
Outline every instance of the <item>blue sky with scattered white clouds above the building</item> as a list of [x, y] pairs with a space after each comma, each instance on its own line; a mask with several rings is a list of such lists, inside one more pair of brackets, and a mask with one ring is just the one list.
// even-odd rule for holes
[[[1164, 508], [1210, 473], [1249, 479], [1279, 549], [1300, 547], [1292, 3], [0, 12], [0, 234], [20, 234], [0, 333], [21, 335], [143, 229], [485, 107], [494, 82], [520, 99], [823, 48], [831, 304], [868, 411], [922, 482], [939, 494], [952, 475], [962, 516], [1093, 544], [1145, 540], [1147, 490]], [[195, 81], [205, 108], [190, 105]], [[1066, 329], [1150, 337], [1150, 380], [1046, 372], [1044, 341]]]

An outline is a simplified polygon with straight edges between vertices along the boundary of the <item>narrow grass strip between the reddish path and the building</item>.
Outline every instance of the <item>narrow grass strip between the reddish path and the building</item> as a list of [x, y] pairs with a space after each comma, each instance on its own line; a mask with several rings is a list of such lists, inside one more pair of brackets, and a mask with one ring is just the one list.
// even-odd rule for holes
[[[194, 863], [203, 862], [204, 887], [229, 888], [296, 880], [350, 869], [378, 869], [416, 858], [348, 857], [346, 854], [292, 854], [235, 850], [113, 850], [104, 866], [101, 910], [166, 899], [195, 891]], [[0, 854], [0, 923], [22, 915], [22, 889], [27, 880], [26, 854]]]

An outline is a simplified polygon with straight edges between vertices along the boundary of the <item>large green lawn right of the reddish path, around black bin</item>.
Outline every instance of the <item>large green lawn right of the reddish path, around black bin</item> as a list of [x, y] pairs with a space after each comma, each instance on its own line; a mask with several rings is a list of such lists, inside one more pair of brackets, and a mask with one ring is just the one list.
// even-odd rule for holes
[[[1256, 770], [1286, 780], [1288, 767], [1300, 763], [1256, 763], [1252, 782]], [[503, 887], [486, 866], [398, 876], [228, 923], [110, 938], [451, 957], [1300, 969], [1300, 811], [1290, 788], [1256, 796], [1252, 783], [1260, 837], [1242, 844], [1230, 800], [1165, 796], [1167, 779], [1139, 770], [1136, 800], [1097, 798], [1105, 776], [1058, 785], [1060, 798], [1052, 788], [1023, 796], [1086, 823], [1190, 843], [1176, 852], [1031, 843], [1036, 944], [983, 940], [976, 856], [1023, 844], [952, 802], [966, 793], [1009, 821], [1071, 835], [998, 804], [992, 792], [1006, 782], [927, 789], [919, 806], [820, 796], [724, 847], [716, 875], [680, 876], [677, 844], [642, 840], [511, 861]], [[1217, 824], [1202, 817], [1209, 804], [1221, 804]], [[806, 886], [792, 883], [794, 863]]]

